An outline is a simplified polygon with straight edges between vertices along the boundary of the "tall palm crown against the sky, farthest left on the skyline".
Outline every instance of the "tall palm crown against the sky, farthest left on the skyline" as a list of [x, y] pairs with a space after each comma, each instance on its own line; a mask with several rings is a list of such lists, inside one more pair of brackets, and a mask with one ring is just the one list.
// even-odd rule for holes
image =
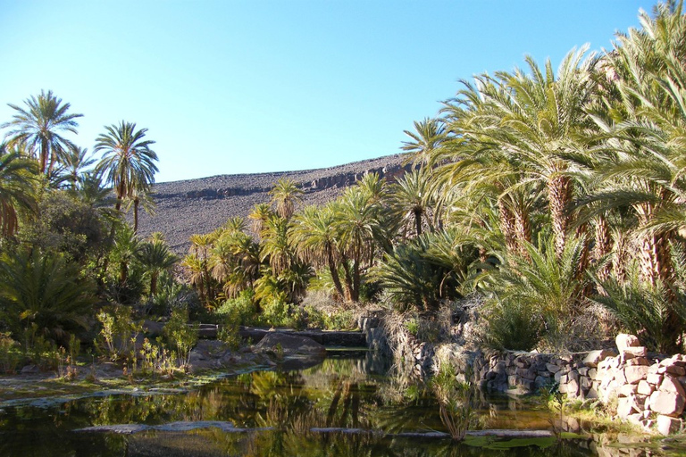
[[0, 125], [7, 132], [10, 145], [21, 145], [29, 150], [38, 149], [38, 170], [50, 175], [60, 154], [76, 147], [61, 136], [64, 131], [77, 133], [79, 123], [75, 120], [83, 114], [68, 112], [71, 104], [63, 104], [62, 98], [53, 95], [52, 90], [43, 90], [40, 95], [24, 100], [26, 108], [8, 104], [17, 113], [13, 120]]

